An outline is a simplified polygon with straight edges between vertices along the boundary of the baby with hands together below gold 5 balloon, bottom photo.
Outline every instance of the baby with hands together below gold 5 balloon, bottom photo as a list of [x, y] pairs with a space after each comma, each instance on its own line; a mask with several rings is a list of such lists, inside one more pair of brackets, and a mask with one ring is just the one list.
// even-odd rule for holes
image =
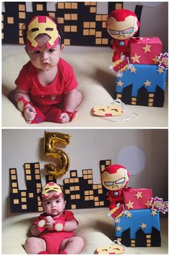
[[58, 184], [47, 183], [41, 194], [43, 214], [33, 223], [30, 231], [34, 237], [25, 241], [28, 254], [79, 254], [84, 246], [74, 231], [78, 222], [73, 213], [64, 210], [66, 201]]

